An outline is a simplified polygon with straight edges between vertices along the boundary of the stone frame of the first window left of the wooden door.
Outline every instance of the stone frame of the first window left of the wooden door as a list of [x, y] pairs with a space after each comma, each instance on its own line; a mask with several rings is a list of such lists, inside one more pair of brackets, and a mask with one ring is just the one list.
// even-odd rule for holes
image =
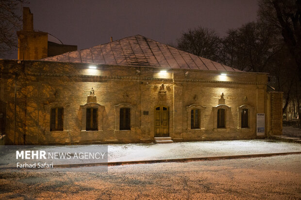
[[[136, 113], [136, 106], [129, 104], [129, 103], [121, 103], [114, 106], [115, 108], [115, 131], [132, 131], [135, 124], [135, 113]], [[131, 120], [131, 129], [130, 130], [120, 130], [119, 129], [119, 120], [120, 120], [120, 108], [130, 108], [130, 120]]]

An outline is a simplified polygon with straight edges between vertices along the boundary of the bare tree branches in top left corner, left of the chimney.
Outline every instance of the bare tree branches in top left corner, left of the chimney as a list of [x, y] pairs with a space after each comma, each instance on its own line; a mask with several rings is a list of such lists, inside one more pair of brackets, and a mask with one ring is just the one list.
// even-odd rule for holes
[[0, 0], [0, 58], [17, 48], [16, 31], [21, 27], [21, 4], [26, 0]]

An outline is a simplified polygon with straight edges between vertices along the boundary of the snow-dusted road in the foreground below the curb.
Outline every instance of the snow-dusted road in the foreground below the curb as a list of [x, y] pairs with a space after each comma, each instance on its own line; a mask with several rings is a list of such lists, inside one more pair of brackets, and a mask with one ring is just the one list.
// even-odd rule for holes
[[0, 172], [0, 199], [301, 199], [301, 155]]

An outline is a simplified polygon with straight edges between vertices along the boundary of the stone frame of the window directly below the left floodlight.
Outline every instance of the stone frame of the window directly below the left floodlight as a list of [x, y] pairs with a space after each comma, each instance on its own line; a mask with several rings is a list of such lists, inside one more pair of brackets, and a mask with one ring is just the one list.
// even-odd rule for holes
[[[80, 106], [82, 109], [82, 126], [81, 126], [81, 131], [82, 132], [98, 132], [98, 131], [103, 131], [103, 110], [104, 106], [95, 103], [95, 102], [90, 102], [86, 103], [84, 105]], [[98, 119], [97, 119], [97, 128], [98, 130], [86, 130], [86, 110], [87, 108], [97, 108], [97, 114], [98, 114]]]

